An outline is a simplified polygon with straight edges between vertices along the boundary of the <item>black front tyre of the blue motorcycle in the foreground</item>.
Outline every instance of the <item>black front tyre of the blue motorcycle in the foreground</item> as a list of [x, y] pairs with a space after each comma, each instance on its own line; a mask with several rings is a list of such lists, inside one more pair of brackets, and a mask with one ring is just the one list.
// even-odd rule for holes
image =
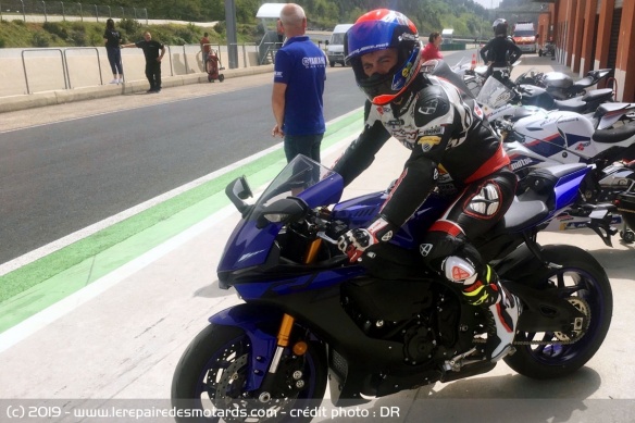
[[[297, 329], [297, 333], [300, 331]], [[274, 414], [267, 418], [254, 419], [251, 415], [240, 415], [226, 416], [224, 421], [309, 422], [310, 416], [291, 419], [289, 410], [314, 408], [321, 402], [326, 389], [328, 369], [325, 347], [316, 341], [308, 344], [309, 349], [302, 356], [301, 366], [304, 387], [297, 393], [295, 398], [282, 407], [279, 402], [276, 403], [275, 399], [272, 399], [266, 410], [272, 410]], [[245, 331], [235, 326], [210, 324], [191, 341], [176, 365], [172, 380], [172, 406], [176, 410], [183, 410], [182, 413], [190, 410], [210, 412], [215, 407], [211, 397], [221, 394], [223, 397], [215, 398], [215, 405], [221, 403], [216, 410], [238, 409], [244, 412], [256, 410], [265, 413], [265, 408], [260, 407], [258, 400], [261, 391], [249, 393], [242, 389], [249, 376], [251, 353], [251, 343]], [[215, 418], [177, 416], [176, 421], [179, 423], [217, 422], [219, 416], [217, 413]]]

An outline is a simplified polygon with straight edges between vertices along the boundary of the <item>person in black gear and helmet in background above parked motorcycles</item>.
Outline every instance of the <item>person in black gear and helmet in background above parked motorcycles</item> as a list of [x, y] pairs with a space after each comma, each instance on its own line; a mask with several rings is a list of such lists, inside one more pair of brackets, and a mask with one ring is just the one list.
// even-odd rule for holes
[[[487, 63], [487, 76], [494, 77], [501, 83], [506, 83], [498, 69], [507, 69], [523, 54], [522, 50], [507, 36], [508, 24], [502, 17], [497, 18], [491, 24], [494, 38], [481, 49], [481, 58]], [[509, 75], [508, 75], [509, 77]]]

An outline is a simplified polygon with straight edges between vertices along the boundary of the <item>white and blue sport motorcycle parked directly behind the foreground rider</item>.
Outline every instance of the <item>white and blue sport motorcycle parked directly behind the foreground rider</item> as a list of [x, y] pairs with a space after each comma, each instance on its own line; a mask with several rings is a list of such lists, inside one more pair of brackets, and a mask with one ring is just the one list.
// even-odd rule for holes
[[[606, 103], [593, 114], [546, 111], [514, 105], [515, 92], [496, 79], [488, 79], [476, 101], [503, 139], [512, 169], [521, 181], [536, 167], [562, 163], [593, 164], [594, 170], [581, 185], [582, 200], [573, 210], [582, 222], [611, 245], [612, 224], [620, 194], [632, 192], [635, 185], [635, 103]], [[580, 227], [580, 222], [571, 222]], [[633, 227], [620, 233], [633, 239]]]

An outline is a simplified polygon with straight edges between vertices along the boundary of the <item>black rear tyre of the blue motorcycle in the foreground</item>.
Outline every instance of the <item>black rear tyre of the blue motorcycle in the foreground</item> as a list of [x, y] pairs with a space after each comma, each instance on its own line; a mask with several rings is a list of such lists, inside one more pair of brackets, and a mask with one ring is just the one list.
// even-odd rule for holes
[[[515, 372], [527, 377], [547, 380], [562, 377], [583, 366], [597, 352], [605, 340], [613, 313], [613, 297], [609, 278], [602, 266], [588, 252], [572, 246], [545, 246], [544, 258], [562, 265], [561, 269], [540, 269], [532, 277], [544, 282], [545, 288], [577, 286], [573, 294], [562, 294], [585, 314], [590, 314], [586, 328], [582, 328], [569, 345], [516, 345], [516, 351], [505, 358]], [[571, 291], [570, 291], [571, 293]], [[518, 333], [515, 341], [558, 340], [562, 333]], [[569, 338], [569, 340], [574, 340]]]

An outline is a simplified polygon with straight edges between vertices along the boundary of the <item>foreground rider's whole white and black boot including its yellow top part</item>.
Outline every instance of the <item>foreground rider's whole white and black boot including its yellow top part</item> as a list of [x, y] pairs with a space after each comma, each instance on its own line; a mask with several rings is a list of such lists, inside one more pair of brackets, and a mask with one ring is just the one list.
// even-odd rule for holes
[[485, 358], [498, 361], [512, 350], [516, 323], [520, 315], [519, 299], [510, 294], [498, 279], [496, 272], [486, 265], [482, 277], [463, 289], [468, 302], [485, 309], [487, 343]]

